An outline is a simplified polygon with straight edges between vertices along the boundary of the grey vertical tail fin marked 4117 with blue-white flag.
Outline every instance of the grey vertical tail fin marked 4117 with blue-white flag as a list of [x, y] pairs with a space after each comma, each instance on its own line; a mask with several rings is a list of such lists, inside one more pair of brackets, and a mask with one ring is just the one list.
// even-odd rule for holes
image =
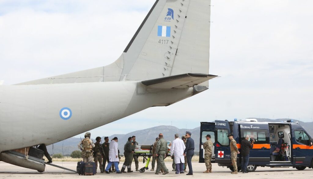
[[[114, 63], [21, 84], [150, 80], [208, 74], [210, 0], [156, 0]], [[208, 86], [208, 82], [201, 85]]]

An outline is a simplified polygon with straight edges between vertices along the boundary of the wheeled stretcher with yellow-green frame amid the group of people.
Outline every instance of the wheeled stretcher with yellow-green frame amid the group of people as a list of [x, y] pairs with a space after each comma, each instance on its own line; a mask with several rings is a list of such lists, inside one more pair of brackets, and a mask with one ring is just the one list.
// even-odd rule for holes
[[[166, 157], [171, 156], [170, 149], [168, 149], [167, 151], [168, 152], [166, 154]], [[143, 172], [145, 172], [145, 170], [149, 169], [149, 163], [150, 163], [152, 155], [153, 155], [152, 145], [136, 146], [134, 156], [136, 156], [137, 158], [140, 156], [143, 157], [143, 160], [142, 160], [143, 163], [145, 163], [145, 161], [147, 161], [146, 165], [144, 167], [142, 167], [141, 169], [139, 169], [140, 173], [143, 173]]]

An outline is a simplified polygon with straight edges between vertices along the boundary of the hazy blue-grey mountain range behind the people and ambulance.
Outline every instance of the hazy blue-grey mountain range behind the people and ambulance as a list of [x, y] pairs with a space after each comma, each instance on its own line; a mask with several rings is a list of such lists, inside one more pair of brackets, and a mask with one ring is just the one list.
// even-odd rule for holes
[[[287, 121], [288, 119], [265, 119], [265, 118], [253, 118], [257, 119], [259, 122], [281, 122]], [[294, 120], [294, 122], [299, 122], [301, 126], [309, 133], [310, 136], [313, 136], [313, 122], [302, 122], [300, 120]], [[187, 129], [187, 131], [192, 133], [192, 138], [195, 141], [195, 151], [199, 151], [199, 142], [200, 142], [200, 127], [194, 129]], [[136, 130], [127, 134], [115, 134], [108, 136], [111, 140], [113, 137], [118, 138], [118, 147], [123, 154], [124, 145], [127, 142], [127, 138], [131, 136], [136, 136], [136, 141], [139, 145], [152, 145], [155, 141], [155, 138], [158, 137], [159, 133], [163, 133], [164, 139], [167, 141], [174, 140], [174, 134], [179, 134], [179, 136], [184, 136], [186, 129], [178, 129], [174, 126], [161, 125], [156, 127], [151, 127], [143, 130]], [[93, 136], [92, 136], [93, 137]], [[104, 142], [104, 137], [102, 136], [102, 142]], [[53, 145], [47, 146], [48, 152], [50, 155], [61, 153], [63, 155], [69, 155], [72, 151], [78, 150], [77, 144], [79, 143], [80, 138], [71, 137], [65, 139], [64, 141], [57, 142]], [[95, 142], [95, 139], [93, 139]]]

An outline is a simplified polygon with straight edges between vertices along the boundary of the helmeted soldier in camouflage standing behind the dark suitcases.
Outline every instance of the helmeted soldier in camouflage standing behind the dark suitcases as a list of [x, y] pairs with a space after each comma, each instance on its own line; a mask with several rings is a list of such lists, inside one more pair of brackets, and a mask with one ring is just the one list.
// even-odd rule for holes
[[94, 142], [90, 139], [90, 132], [86, 132], [85, 138], [78, 143], [78, 148], [81, 150], [81, 156], [84, 162], [92, 162], [92, 149], [95, 147]]

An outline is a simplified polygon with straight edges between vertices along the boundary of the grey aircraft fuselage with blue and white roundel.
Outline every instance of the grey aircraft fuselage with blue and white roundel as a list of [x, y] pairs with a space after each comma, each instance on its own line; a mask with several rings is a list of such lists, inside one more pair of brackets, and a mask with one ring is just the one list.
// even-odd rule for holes
[[50, 145], [192, 95], [193, 88], [151, 89], [138, 81], [0, 85], [0, 152]]

